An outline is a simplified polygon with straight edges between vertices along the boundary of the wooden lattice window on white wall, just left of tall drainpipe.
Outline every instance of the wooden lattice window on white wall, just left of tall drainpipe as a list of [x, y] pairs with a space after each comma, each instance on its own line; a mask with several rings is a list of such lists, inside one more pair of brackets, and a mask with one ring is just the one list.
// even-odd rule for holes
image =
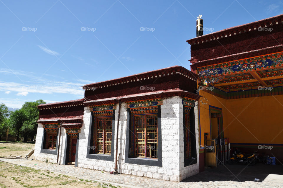
[[96, 117], [93, 146], [96, 154], [111, 154], [112, 117]]

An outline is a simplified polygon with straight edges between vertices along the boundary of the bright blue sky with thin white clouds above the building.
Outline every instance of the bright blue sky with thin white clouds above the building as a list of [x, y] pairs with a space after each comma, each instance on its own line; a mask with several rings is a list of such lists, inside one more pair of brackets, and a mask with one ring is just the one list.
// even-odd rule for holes
[[0, 0], [0, 103], [80, 99], [84, 84], [190, 69], [199, 14], [207, 34], [283, 13], [283, 1], [199, 2]]

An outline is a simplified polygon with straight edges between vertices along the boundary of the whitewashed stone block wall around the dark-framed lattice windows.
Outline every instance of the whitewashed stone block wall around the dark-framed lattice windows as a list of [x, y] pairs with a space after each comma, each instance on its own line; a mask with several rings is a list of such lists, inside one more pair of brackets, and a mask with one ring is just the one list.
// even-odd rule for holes
[[[197, 104], [196, 104], [197, 106]], [[113, 171], [115, 168], [115, 148], [116, 148], [116, 131], [118, 120], [118, 109], [115, 112], [115, 133], [114, 134], [114, 160], [104, 161], [98, 159], [86, 158], [88, 150], [88, 134], [90, 130], [91, 112], [89, 107], [85, 107], [83, 115], [83, 126], [79, 135], [79, 147], [78, 147], [78, 167], [95, 169], [105, 172]], [[198, 135], [198, 111], [195, 107], [195, 128], [196, 135]], [[162, 128], [162, 167], [159, 166], [147, 166], [125, 163], [125, 141], [126, 141], [126, 126], [127, 126], [127, 109], [126, 104], [121, 104], [119, 132], [118, 132], [118, 152], [120, 157], [118, 160], [118, 171], [122, 174], [131, 174], [137, 176], [146, 176], [155, 179], [164, 179], [170, 181], [181, 181], [186, 177], [197, 174], [199, 171], [199, 162], [194, 165], [184, 167], [184, 143], [183, 143], [183, 105], [181, 97], [170, 97], [163, 100], [161, 105], [161, 128]], [[36, 160], [45, 161], [46, 158], [49, 162], [56, 162], [56, 155], [48, 155], [40, 153], [41, 140], [42, 140], [42, 124], [39, 124], [37, 130], [37, 139], [35, 145], [34, 158]], [[158, 133], [160, 134], [160, 133]], [[62, 140], [65, 142], [65, 131], [62, 129]], [[197, 143], [197, 157], [198, 157], [198, 136], [196, 137]], [[63, 150], [65, 143], [60, 146], [60, 156], [63, 156]], [[92, 143], [90, 144], [92, 145]], [[118, 155], [119, 155], [118, 153]], [[62, 157], [60, 157], [62, 160]], [[199, 161], [199, 158], [198, 158]], [[62, 162], [61, 162], [62, 163]]]

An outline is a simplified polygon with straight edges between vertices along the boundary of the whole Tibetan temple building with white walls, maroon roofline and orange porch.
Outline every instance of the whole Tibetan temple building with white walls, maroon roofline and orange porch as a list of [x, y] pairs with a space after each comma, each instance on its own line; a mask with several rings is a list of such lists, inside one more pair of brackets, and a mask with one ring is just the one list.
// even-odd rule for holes
[[[283, 163], [283, 15], [203, 35], [173, 66], [83, 86], [41, 104], [34, 159], [182, 181], [229, 148]], [[225, 154], [224, 154], [225, 153]]]

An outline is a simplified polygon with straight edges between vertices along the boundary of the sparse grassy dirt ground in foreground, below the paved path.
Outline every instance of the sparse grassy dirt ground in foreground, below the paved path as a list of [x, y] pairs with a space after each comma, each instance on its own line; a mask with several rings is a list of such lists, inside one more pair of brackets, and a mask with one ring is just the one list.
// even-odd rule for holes
[[102, 187], [121, 188], [26, 166], [0, 162], [0, 187]]

